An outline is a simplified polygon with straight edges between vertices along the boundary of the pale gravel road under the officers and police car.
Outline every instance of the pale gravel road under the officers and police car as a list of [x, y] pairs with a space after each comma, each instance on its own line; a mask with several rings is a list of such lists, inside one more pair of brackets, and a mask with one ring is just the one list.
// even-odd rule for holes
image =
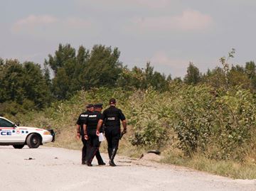
[[[107, 162], [105, 153], [102, 157]], [[232, 180], [119, 155], [116, 163], [97, 166], [94, 160], [87, 167], [80, 164], [80, 151], [0, 146], [0, 190], [256, 190], [256, 180]]]

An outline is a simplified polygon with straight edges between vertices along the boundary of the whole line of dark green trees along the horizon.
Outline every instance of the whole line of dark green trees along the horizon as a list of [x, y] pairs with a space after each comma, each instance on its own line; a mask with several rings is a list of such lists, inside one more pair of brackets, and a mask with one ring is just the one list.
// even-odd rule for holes
[[[256, 90], [256, 66], [250, 61], [242, 65], [228, 65], [228, 58], [220, 58], [223, 67], [201, 73], [189, 63], [183, 80], [171, 79], [154, 71], [150, 62], [144, 68], [130, 70], [120, 60], [118, 48], [95, 45], [91, 50], [82, 45], [75, 50], [70, 44], [60, 44], [53, 55], [45, 59], [44, 67], [34, 62], [0, 59], [0, 114], [17, 114], [31, 109], [43, 109], [56, 100], [70, 99], [80, 90], [98, 87], [171, 91], [172, 83], [209, 84], [215, 89], [240, 86]], [[51, 75], [53, 73], [53, 75]]]

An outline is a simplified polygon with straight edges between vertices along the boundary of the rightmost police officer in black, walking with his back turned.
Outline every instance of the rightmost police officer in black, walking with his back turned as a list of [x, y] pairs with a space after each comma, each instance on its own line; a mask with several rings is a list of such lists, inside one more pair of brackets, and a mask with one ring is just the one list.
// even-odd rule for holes
[[103, 111], [102, 119], [97, 124], [97, 136], [100, 135], [100, 128], [104, 122], [105, 124], [105, 136], [107, 138], [107, 152], [110, 157], [110, 165], [115, 166], [114, 156], [117, 153], [119, 138], [121, 134], [120, 120], [124, 128], [122, 133], [127, 132], [127, 122], [121, 109], [117, 109], [116, 100], [110, 99], [110, 107]]

